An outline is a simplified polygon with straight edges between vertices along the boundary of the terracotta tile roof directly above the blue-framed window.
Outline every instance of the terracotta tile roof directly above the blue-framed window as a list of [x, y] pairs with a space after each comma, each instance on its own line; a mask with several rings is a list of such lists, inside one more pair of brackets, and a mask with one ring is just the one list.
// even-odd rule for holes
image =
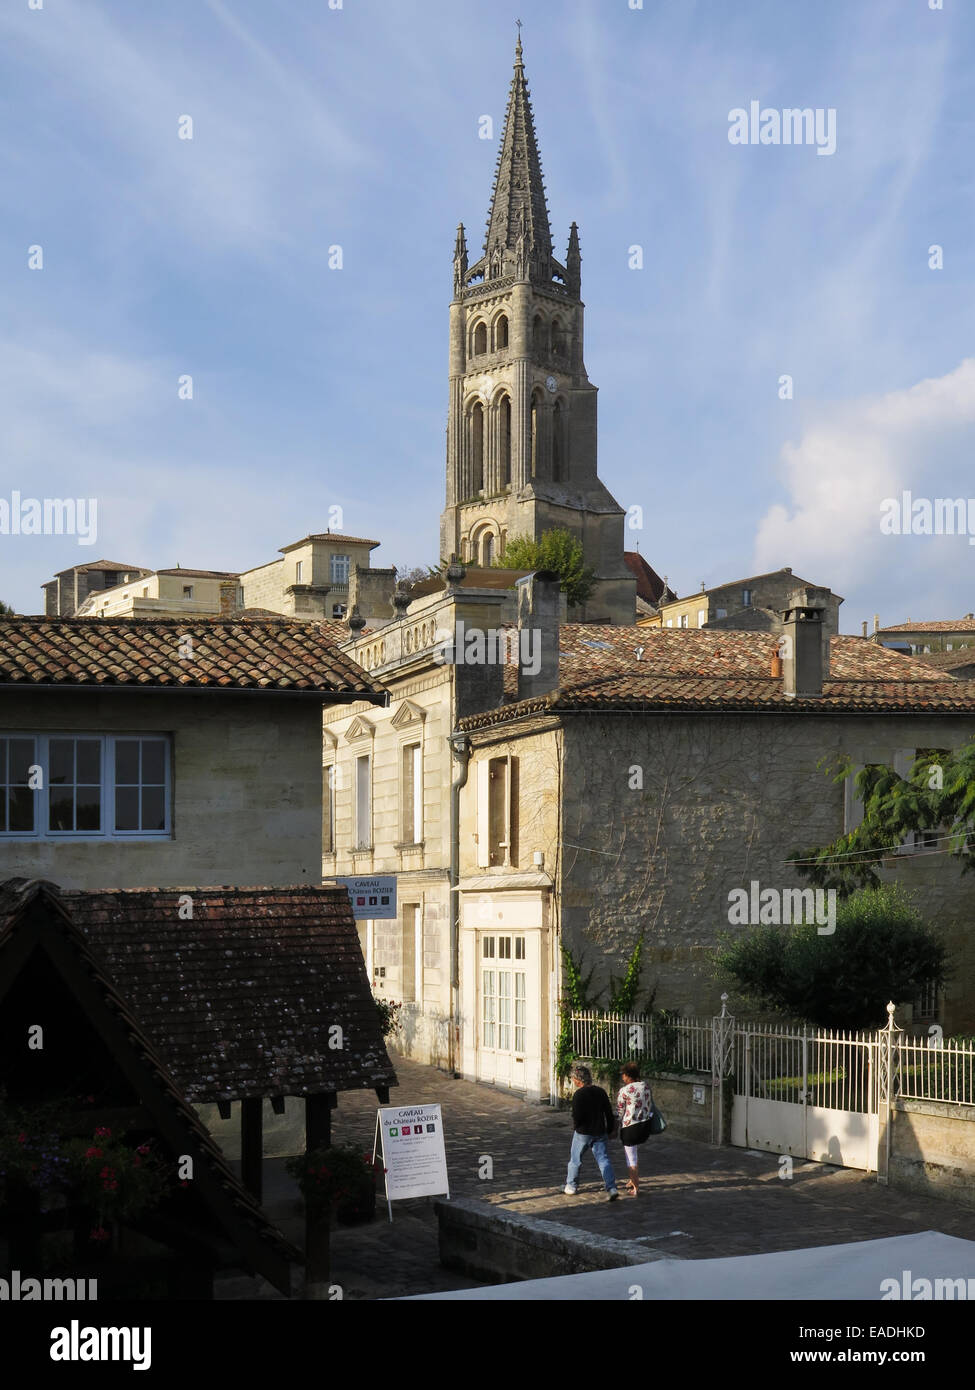
[[[192, 639], [192, 657], [179, 645]], [[252, 689], [385, 705], [321, 624], [288, 619], [0, 619], [0, 685]]]

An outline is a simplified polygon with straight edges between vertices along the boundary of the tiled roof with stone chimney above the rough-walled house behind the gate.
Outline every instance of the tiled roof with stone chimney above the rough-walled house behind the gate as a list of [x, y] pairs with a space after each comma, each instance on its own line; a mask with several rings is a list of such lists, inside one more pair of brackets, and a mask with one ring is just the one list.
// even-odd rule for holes
[[[460, 721], [483, 728], [523, 714], [561, 710], [777, 709], [974, 710], [975, 682], [957, 681], [918, 657], [860, 637], [830, 639], [830, 677], [821, 699], [789, 699], [771, 674], [773, 632], [707, 628], [561, 628], [561, 687], [531, 701], [502, 705]], [[637, 652], [640, 651], [640, 656]], [[515, 695], [515, 669], [505, 689]]]

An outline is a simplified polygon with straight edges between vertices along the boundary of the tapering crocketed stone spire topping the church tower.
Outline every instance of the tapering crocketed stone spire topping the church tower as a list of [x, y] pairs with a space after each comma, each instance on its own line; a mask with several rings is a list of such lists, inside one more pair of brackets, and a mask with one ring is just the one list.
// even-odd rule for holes
[[552, 232], [529, 85], [524, 79], [520, 33], [515, 49], [515, 76], [508, 97], [505, 133], [494, 177], [484, 259], [491, 272], [497, 274], [503, 253], [519, 250], [527, 261], [522, 270], [523, 277], [531, 271], [531, 278], [551, 278]]

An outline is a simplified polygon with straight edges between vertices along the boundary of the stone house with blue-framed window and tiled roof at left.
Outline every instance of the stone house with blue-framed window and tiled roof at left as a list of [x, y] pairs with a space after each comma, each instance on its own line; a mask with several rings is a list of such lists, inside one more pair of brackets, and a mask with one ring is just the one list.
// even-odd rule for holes
[[321, 881], [321, 710], [385, 691], [316, 623], [0, 620], [0, 874]]

